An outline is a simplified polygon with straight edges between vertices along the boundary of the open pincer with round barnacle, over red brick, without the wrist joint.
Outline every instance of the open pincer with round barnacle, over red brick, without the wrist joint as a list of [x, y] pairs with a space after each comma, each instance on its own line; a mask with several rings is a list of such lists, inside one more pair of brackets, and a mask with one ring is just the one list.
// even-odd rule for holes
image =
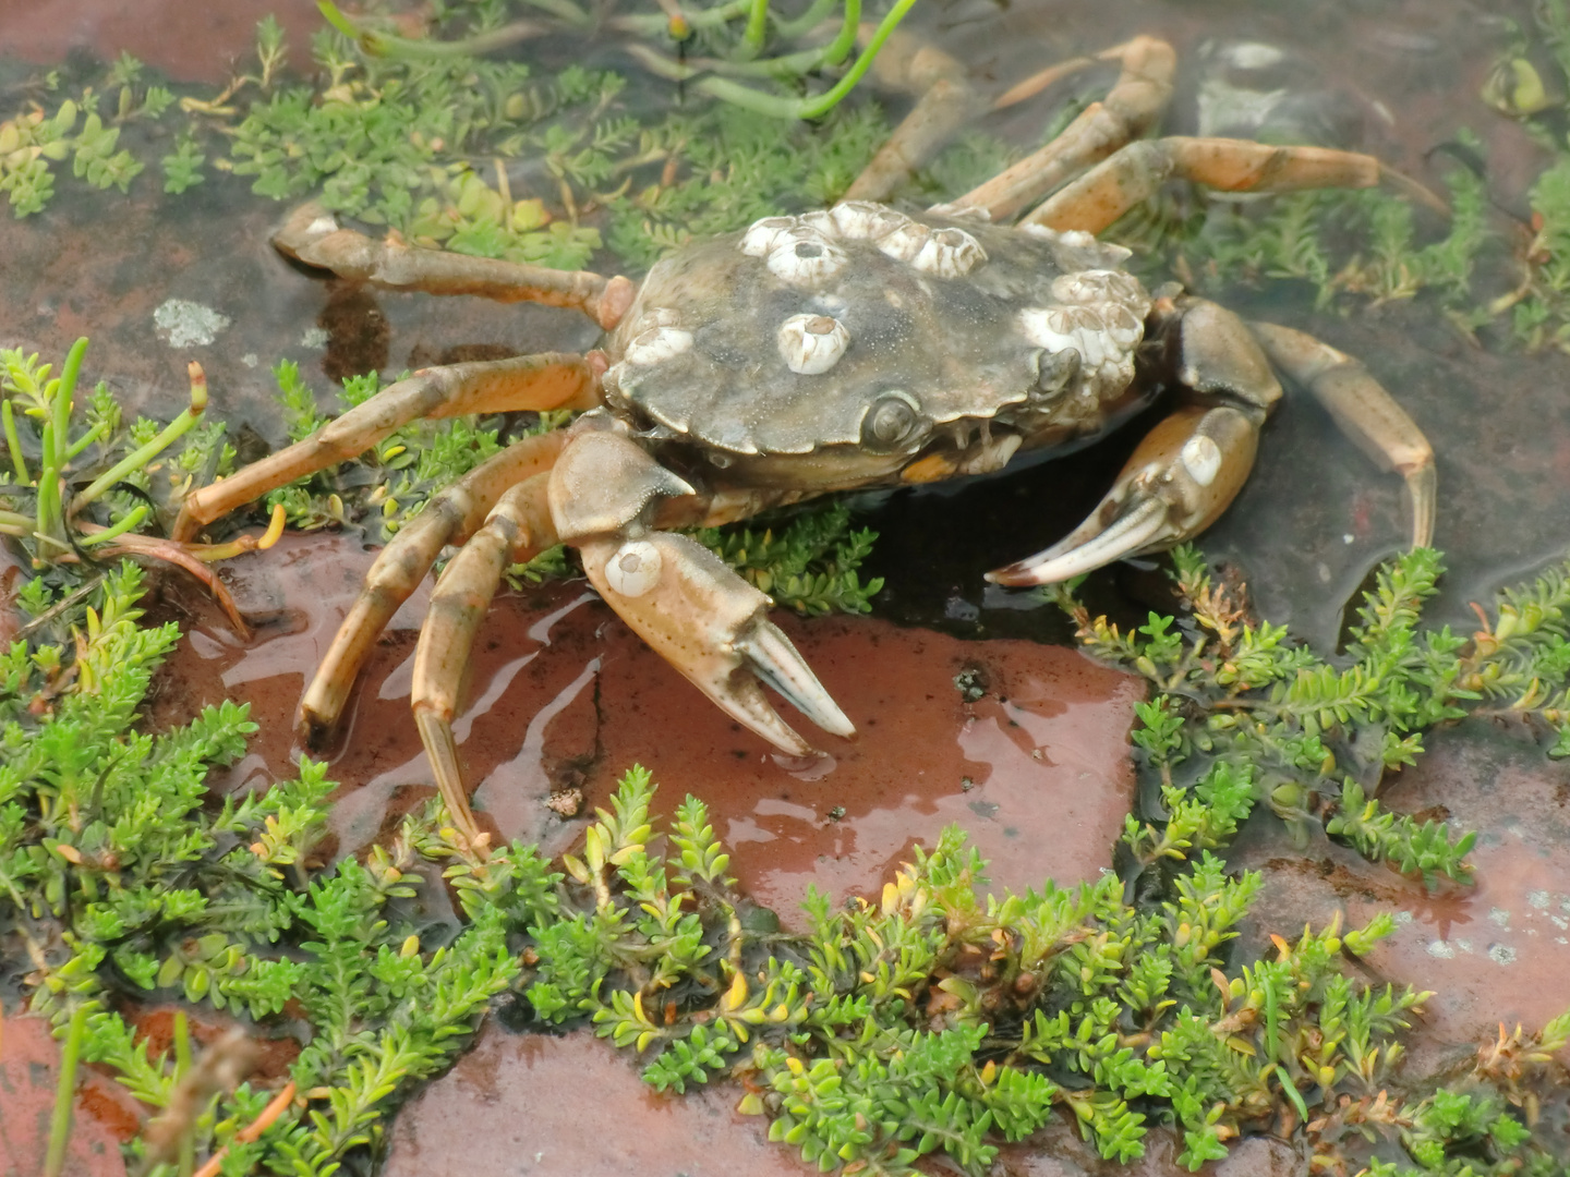
[[768, 620], [769, 598], [703, 545], [648, 532], [584, 540], [579, 554], [622, 620], [725, 714], [780, 752], [805, 756], [813, 747], [779, 717], [758, 680], [824, 731], [856, 734], [796, 647]]

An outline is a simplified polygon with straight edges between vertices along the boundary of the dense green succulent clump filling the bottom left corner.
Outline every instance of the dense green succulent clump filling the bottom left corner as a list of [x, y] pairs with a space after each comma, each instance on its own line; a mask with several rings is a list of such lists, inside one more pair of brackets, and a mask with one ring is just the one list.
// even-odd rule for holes
[[[323, 764], [301, 760], [294, 780], [212, 797], [209, 772], [239, 760], [256, 725], [223, 701], [162, 734], [138, 730], [152, 672], [179, 639], [174, 625], [138, 625], [141, 592], [126, 563], [64, 610], [41, 579], [25, 593], [68, 640], [17, 640], [0, 656], [0, 943], [27, 954], [33, 1012], [61, 1033], [75, 1025], [80, 1058], [162, 1113], [130, 1146], [152, 1177], [218, 1150], [226, 1174], [328, 1177], [380, 1141], [402, 1092], [451, 1062], [517, 976], [509, 920], [529, 918], [526, 896], [553, 876], [520, 851], [504, 898], [433, 926], [411, 901], [435, 871], [414, 849], [440, 840], [435, 813], [363, 860], [325, 866], [314, 857], [334, 788]], [[127, 998], [261, 1023], [295, 1003], [298, 1094], [281, 1108], [250, 1083], [177, 1097], [190, 1051], [152, 1053], [122, 1015]], [[257, 1122], [268, 1127], [248, 1133]]]

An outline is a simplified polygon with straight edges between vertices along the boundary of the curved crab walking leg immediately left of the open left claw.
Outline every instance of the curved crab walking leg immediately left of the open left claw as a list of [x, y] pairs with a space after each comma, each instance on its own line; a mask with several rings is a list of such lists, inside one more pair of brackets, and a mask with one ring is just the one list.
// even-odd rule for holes
[[485, 526], [452, 557], [430, 595], [430, 612], [414, 650], [414, 723], [441, 799], [471, 841], [479, 836], [479, 829], [463, 785], [452, 719], [458, 711], [463, 669], [474, 648], [474, 634], [502, 573], [509, 563], [526, 560], [556, 543], [556, 526], [546, 502], [548, 482], [550, 474], [542, 472], [507, 490]]

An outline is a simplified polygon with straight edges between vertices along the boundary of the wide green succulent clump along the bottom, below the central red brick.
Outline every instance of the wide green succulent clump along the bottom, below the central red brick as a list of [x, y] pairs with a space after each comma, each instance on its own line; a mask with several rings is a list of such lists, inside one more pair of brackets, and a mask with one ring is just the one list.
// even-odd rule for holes
[[[1341, 965], [1394, 929], [1388, 915], [1272, 937], [1256, 956], [1234, 940], [1261, 877], [1229, 876], [1209, 852], [1135, 902], [1110, 874], [981, 896], [984, 863], [950, 827], [878, 901], [835, 909], [813, 890], [809, 931], [791, 935], [724, 876], [702, 802], [688, 797], [659, 838], [653, 794], [647, 772], [630, 772], [582, 854], [564, 858], [554, 898], [531, 902], [543, 918], [529, 927], [524, 997], [545, 1022], [587, 1017], [645, 1055], [656, 1088], [739, 1077], [739, 1110], [768, 1116], [771, 1139], [826, 1172], [911, 1174], [944, 1150], [980, 1177], [1000, 1139], [1055, 1106], [1124, 1161], [1149, 1124], [1173, 1124], [1192, 1169], [1259, 1128], [1347, 1171], [1375, 1141], [1435, 1172], [1468, 1144], [1415, 1128], [1441, 1114], [1443, 1092], [1408, 1103], [1385, 1086], [1430, 995]], [[490, 871], [465, 860], [449, 877], [473, 895]], [[1502, 1061], [1468, 1080], [1496, 1149], [1474, 1172], [1550, 1172], [1521, 1092], [1554, 1081], [1567, 1025], [1495, 1051]], [[1513, 1102], [1510, 1081], [1524, 1081]]]

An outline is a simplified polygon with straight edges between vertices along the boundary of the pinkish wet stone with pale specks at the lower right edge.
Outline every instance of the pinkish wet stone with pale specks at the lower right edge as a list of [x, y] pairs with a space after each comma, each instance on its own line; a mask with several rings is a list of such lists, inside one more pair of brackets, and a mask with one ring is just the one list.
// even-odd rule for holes
[[1364, 960], [1369, 979], [1435, 990], [1408, 1077], [1470, 1055], [1499, 1023], [1531, 1031], [1570, 1006], [1570, 769], [1513, 725], [1466, 720], [1424, 742], [1427, 753], [1389, 777], [1380, 802], [1448, 821], [1455, 835], [1477, 830], [1474, 887], [1438, 879], [1429, 890], [1322, 835], [1298, 851], [1269, 818], [1228, 855], [1265, 874], [1237, 940], [1248, 954], [1267, 951], [1272, 932], [1295, 938], [1336, 913], [1349, 926], [1394, 915], [1396, 932]]

